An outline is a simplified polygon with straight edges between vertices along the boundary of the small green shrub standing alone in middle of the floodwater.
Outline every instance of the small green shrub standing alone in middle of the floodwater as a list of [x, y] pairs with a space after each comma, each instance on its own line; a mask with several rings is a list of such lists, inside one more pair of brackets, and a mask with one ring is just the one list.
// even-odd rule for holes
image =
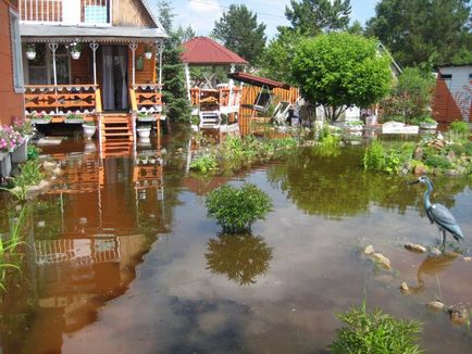
[[222, 186], [207, 194], [208, 215], [218, 219], [226, 232], [248, 230], [258, 219], [264, 219], [272, 210], [269, 195], [254, 185], [241, 188]]

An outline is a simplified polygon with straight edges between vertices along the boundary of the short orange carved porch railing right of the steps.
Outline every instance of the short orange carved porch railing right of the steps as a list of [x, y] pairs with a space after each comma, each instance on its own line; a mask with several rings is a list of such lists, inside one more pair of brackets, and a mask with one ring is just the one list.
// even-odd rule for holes
[[129, 98], [134, 112], [162, 112], [162, 93], [159, 84], [135, 84], [129, 88]]

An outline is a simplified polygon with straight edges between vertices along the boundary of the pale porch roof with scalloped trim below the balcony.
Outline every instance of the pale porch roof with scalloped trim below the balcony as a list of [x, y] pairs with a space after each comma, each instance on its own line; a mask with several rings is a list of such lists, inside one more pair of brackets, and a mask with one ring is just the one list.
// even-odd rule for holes
[[97, 42], [153, 42], [167, 35], [162, 28], [137, 27], [85, 27], [62, 25], [20, 25], [20, 35], [30, 42], [70, 42], [97, 41]]

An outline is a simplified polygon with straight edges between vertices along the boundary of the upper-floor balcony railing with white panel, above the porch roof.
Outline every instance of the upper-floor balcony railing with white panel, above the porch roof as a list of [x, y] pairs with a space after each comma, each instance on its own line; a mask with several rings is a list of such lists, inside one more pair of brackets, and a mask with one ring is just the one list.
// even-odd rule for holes
[[111, 24], [111, 0], [20, 0], [25, 23]]

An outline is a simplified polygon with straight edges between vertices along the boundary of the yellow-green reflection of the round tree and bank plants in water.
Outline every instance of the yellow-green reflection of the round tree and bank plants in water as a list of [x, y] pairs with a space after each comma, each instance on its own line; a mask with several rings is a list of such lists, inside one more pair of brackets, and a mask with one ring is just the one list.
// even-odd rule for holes
[[[328, 155], [315, 149], [297, 152], [285, 164], [271, 166], [268, 179], [280, 186], [297, 207], [326, 218], [367, 214], [373, 204], [397, 210], [401, 214], [409, 206], [414, 206], [424, 214], [422, 190], [406, 184], [411, 177], [364, 173], [362, 148], [339, 150], [339, 154]], [[435, 201], [452, 207], [454, 195], [464, 189], [467, 179], [434, 179], [437, 186]]]

